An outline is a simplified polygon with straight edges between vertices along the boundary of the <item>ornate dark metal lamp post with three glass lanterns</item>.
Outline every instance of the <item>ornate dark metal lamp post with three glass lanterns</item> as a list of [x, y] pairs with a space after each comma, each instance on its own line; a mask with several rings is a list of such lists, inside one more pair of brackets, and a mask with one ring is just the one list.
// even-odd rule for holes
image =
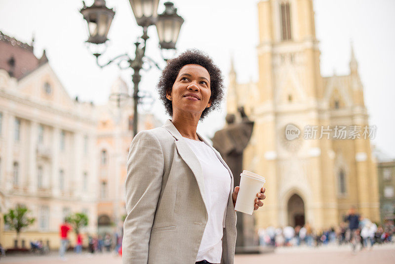
[[[89, 32], [89, 37], [86, 42], [95, 46], [104, 45], [106, 47], [106, 41], [108, 40], [107, 34], [110, 30], [115, 11], [106, 6], [105, 0], [94, 0], [91, 6], [86, 6], [84, 1], [82, 1], [82, 3], [83, 7], [79, 12], [86, 20]], [[153, 66], [160, 69], [158, 63], [145, 55], [146, 42], [149, 39], [147, 35], [148, 27], [156, 25], [161, 51], [163, 49], [174, 50], [184, 19], [177, 14], [177, 8], [174, 8], [172, 2], [164, 3], [165, 10], [161, 14], [157, 13], [159, 0], [129, 0], [129, 3], [132, 7], [134, 17], [136, 18], [137, 25], [143, 28], [143, 35], [134, 43], [134, 58], [131, 58], [127, 53], [124, 53], [109, 60], [107, 63], [101, 64], [99, 63], [99, 57], [104, 53], [104, 50], [93, 52], [93, 55], [96, 57], [96, 63], [100, 68], [117, 62], [120, 69], [133, 69], [133, 95], [111, 94], [110, 97], [117, 97], [118, 103], [122, 97], [133, 98], [133, 136], [135, 136], [137, 134], [138, 120], [137, 105], [140, 103], [139, 99], [145, 97], [139, 96], [138, 86], [141, 80], [140, 70], [144, 69], [143, 65], [145, 64], [149, 66], [148, 69]], [[166, 60], [165, 58], [163, 59]], [[123, 66], [121, 63], [123, 63]]]

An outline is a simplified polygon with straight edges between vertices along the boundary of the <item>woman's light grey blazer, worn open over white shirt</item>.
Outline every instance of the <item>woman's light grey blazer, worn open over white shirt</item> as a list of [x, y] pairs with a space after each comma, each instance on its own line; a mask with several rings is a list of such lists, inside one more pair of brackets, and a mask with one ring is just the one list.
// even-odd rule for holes
[[[233, 264], [236, 211], [232, 189], [225, 213], [221, 264]], [[200, 163], [176, 127], [167, 119], [160, 128], [133, 138], [124, 183], [127, 216], [123, 224], [123, 264], [195, 264], [207, 223]]]

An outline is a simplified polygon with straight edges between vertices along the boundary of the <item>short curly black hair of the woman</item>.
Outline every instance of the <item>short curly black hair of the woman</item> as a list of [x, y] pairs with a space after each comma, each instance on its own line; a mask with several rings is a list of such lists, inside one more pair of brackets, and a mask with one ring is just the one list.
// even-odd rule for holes
[[221, 105], [224, 98], [224, 77], [221, 70], [214, 64], [211, 57], [198, 49], [187, 49], [178, 57], [168, 60], [159, 78], [157, 89], [159, 99], [162, 101], [166, 113], [173, 116], [172, 101], [166, 98], [166, 92], [173, 88], [177, 75], [181, 68], [187, 64], [197, 64], [204, 67], [210, 75], [211, 105], [206, 107], [200, 115], [199, 120], [203, 120], [208, 113]]

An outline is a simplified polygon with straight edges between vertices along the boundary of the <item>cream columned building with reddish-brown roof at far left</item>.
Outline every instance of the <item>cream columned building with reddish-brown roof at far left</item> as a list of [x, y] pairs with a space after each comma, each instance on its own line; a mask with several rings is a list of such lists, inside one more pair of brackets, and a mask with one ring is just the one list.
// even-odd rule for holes
[[[0, 32], [1, 215], [25, 205], [36, 221], [21, 240], [59, 246], [59, 226], [71, 212], [85, 212], [96, 225], [94, 107], [70, 98], [33, 44]], [[13, 247], [15, 231], [3, 224], [1, 244]], [[20, 243], [20, 242], [19, 242]], [[21, 244], [19, 244], [21, 246]]]

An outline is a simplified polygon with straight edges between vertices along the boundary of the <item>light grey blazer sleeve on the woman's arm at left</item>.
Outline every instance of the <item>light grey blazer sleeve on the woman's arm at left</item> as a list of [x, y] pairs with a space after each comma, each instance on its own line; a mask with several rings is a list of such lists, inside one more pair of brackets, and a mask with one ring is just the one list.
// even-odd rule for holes
[[164, 157], [158, 138], [141, 131], [133, 138], [124, 182], [126, 219], [122, 263], [148, 262], [148, 245], [162, 184]]

